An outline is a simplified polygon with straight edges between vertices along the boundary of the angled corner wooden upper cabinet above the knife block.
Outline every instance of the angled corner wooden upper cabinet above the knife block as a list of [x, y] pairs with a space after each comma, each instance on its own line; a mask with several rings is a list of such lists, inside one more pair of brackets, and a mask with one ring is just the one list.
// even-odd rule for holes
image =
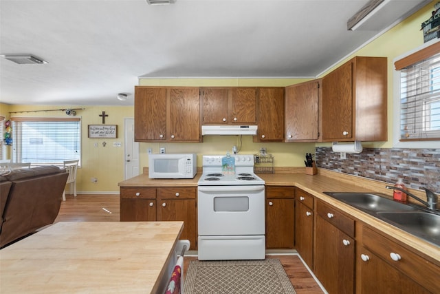
[[286, 87], [285, 142], [316, 142], [319, 139], [320, 80]]

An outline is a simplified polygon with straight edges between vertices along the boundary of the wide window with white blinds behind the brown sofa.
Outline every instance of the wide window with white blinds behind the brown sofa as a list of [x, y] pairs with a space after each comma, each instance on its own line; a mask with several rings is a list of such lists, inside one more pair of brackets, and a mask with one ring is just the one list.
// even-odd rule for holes
[[11, 118], [12, 160], [63, 165], [81, 158], [80, 118]]

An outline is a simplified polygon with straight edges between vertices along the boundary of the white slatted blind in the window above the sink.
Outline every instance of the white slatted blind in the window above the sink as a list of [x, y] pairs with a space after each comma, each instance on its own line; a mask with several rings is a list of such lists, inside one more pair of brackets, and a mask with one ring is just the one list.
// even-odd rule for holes
[[440, 140], [440, 54], [401, 69], [400, 140]]

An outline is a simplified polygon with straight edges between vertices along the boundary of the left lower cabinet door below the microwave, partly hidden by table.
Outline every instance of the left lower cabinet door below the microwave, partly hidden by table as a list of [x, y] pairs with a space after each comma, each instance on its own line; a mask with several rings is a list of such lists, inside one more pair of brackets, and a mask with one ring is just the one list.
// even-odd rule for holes
[[154, 222], [156, 220], [155, 199], [120, 200], [121, 222]]

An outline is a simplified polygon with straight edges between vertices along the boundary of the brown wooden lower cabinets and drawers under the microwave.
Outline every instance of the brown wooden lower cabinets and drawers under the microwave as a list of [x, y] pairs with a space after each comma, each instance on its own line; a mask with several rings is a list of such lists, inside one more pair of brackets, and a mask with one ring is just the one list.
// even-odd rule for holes
[[184, 222], [180, 239], [197, 249], [196, 187], [121, 187], [120, 220]]

